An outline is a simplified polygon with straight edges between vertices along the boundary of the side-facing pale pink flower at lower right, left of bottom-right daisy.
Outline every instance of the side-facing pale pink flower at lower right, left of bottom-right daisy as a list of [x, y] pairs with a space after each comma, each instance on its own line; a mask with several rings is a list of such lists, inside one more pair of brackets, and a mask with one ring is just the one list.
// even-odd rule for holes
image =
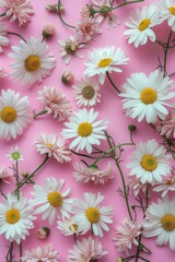
[[119, 252], [129, 253], [132, 245], [138, 246], [137, 237], [141, 234], [141, 224], [136, 225], [132, 221], [125, 218], [121, 226], [115, 228], [114, 241]]

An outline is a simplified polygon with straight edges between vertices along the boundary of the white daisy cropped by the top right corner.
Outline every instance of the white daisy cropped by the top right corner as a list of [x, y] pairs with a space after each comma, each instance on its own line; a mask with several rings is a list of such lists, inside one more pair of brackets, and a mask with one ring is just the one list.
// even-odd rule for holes
[[159, 0], [160, 16], [162, 21], [167, 21], [172, 31], [175, 31], [175, 2], [174, 0]]

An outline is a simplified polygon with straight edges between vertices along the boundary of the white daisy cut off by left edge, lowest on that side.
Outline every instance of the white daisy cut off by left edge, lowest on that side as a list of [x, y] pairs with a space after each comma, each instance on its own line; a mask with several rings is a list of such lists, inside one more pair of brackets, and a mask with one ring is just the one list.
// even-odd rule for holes
[[18, 200], [16, 195], [8, 193], [4, 203], [0, 203], [0, 235], [5, 234], [7, 240], [20, 243], [34, 228], [35, 218], [25, 198]]

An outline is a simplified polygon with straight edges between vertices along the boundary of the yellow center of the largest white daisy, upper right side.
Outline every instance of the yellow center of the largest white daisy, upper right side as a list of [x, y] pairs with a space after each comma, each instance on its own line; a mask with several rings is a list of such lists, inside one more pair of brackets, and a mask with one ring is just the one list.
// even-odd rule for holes
[[158, 98], [158, 94], [153, 88], [144, 88], [140, 93], [140, 99], [143, 104], [149, 105], [153, 104]]

